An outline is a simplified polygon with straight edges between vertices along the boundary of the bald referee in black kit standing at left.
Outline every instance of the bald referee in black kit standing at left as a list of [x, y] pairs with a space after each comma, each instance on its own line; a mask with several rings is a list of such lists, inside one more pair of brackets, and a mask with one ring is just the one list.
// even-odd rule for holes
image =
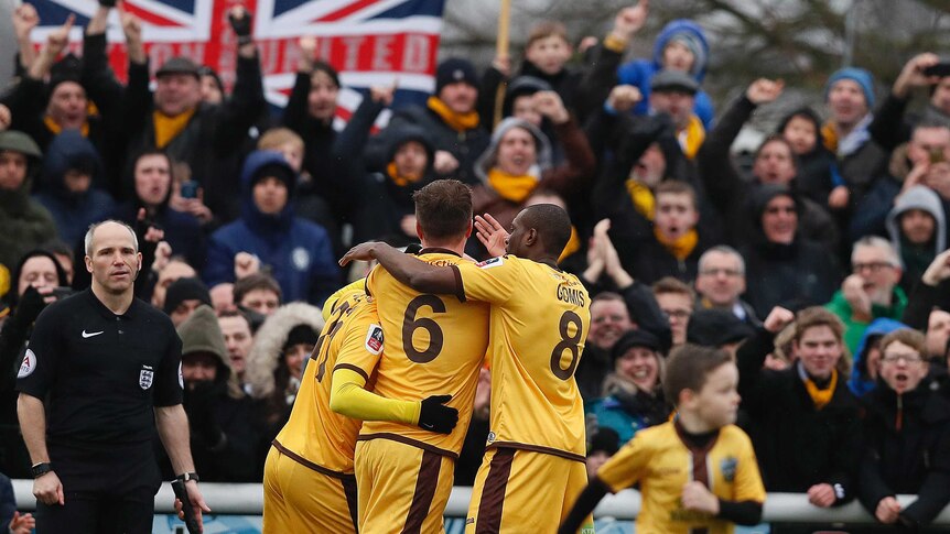
[[36, 532], [151, 532], [156, 428], [201, 519], [210, 510], [192, 472], [182, 342], [164, 314], [133, 296], [142, 264], [133, 230], [99, 222], [85, 246], [91, 287], [40, 314], [18, 374]]

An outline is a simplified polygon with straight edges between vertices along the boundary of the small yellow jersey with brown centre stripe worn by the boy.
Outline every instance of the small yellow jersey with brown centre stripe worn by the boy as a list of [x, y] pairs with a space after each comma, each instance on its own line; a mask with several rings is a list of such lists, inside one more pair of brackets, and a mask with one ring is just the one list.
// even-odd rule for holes
[[728, 425], [714, 439], [711, 448], [693, 450], [680, 438], [673, 422], [646, 428], [601, 467], [597, 478], [614, 492], [640, 483], [637, 532], [688, 534], [705, 528], [709, 534], [732, 533], [733, 523], [684, 510], [680, 502], [683, 486], [693, 480], [723, 500], [765, 502], [748, 436]]

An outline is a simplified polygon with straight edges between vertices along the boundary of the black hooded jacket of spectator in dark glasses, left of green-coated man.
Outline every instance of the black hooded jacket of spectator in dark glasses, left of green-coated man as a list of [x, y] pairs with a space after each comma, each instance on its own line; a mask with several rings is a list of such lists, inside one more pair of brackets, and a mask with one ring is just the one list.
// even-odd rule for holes
[[828, 250], [796, 232], [791, 243], [766, 239], [762, 216], [766, 205], [779, 195], [791, 196], [801, 212], [798, 196], [778, 185], [763, 185], [749, 196], [745, 212], [753, 219], [747, 243], [740, 248], [745, 259], [745, 298], [759, 317], [774, 306], [798, 309], [827, 303], [841, 282], [841, 273]]

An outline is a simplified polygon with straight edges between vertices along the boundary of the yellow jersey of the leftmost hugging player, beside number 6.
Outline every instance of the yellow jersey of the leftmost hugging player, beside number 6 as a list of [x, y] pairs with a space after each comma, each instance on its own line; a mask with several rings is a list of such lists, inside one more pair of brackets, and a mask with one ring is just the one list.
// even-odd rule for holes
[[[330, 410], [331, 378], [339, 358], [382, 351], [376, 303], [363, 294], [338, 302], [323, 327], [301, 380], [290, 418], [277, 435], [279, 450], [307, 465], [353, 472], [353, 450], [361, 422]], [[352, 357], [352, 356], [349, 356]], [[313, 467], [313, 466], [310, 466]]]

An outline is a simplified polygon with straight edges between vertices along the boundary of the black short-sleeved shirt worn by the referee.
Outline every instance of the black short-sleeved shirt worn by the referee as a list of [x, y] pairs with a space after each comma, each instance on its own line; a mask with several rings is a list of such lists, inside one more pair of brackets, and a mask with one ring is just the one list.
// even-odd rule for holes
[[44, 401], [51, 445], [147, 442], [153, 407], [182, 402], [181, 356], [165, 314], [134, 298], [116, 315], [87, 288], [40, 314], [17, 390]]

